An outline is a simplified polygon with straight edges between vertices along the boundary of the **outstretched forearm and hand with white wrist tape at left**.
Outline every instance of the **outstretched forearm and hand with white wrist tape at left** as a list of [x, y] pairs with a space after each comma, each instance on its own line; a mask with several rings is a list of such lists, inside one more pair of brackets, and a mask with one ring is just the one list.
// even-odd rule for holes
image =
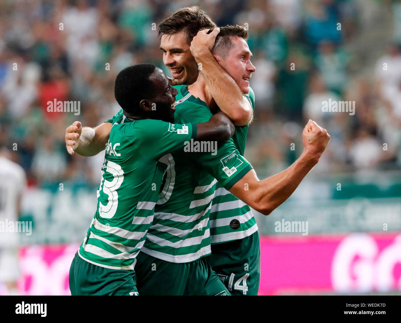
[[75, 121], [65, 130], [65, 145], [70, 155], [94, 156], [105, 149], [109, 140], [111, 123], [104, 122], [95, 128], [82, 127]]

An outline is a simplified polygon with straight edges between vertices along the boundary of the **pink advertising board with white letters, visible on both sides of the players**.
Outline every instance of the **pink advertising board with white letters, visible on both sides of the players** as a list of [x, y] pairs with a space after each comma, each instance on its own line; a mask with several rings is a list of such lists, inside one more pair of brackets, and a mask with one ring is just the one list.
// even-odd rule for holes
[[[22, 295], [70, 295], [79, 244], [20, 249]], [[259, 295], [401, 290], [401, 234], [261, 237]]]

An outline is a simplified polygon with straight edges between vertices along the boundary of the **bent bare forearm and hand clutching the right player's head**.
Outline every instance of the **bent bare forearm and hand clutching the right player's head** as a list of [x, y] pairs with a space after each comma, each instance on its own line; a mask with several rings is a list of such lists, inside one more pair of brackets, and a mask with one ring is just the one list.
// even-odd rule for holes
[[253, 117], [251, 104], [243, 96], [234, 79], [211, 54], [219, 29], [215, 28], [210, 34], [207, 34], [207, 31], [202, 30], [193, 38], [190, 46], [192, 55], [197, 63], [202, 64], [200, 73], [221, 111], [226, 113], [235, 125], [247, 125]]

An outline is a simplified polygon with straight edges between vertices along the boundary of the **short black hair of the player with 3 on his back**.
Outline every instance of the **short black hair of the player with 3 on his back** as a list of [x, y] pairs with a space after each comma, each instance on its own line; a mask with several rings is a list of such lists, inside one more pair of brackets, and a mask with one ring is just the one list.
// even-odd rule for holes
[[149, 77], [156, 69], [153, 64], [137, 64], [126, 67], [115, 78], [114, 97], [127, 113], [140, 109], [142, 99], [152, 99], [155, 88]]

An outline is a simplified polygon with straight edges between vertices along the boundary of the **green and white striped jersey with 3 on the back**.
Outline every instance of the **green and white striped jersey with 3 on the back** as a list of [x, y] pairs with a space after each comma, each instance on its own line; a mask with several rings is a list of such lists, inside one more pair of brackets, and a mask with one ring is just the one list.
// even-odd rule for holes
[[196, 137], [196, 124], [130, 121], [115, 115], [97, 191], [97, 210], [78, 253], [110, 269], [134, 269], [159, 198], [166, 153], [183, 151]]

